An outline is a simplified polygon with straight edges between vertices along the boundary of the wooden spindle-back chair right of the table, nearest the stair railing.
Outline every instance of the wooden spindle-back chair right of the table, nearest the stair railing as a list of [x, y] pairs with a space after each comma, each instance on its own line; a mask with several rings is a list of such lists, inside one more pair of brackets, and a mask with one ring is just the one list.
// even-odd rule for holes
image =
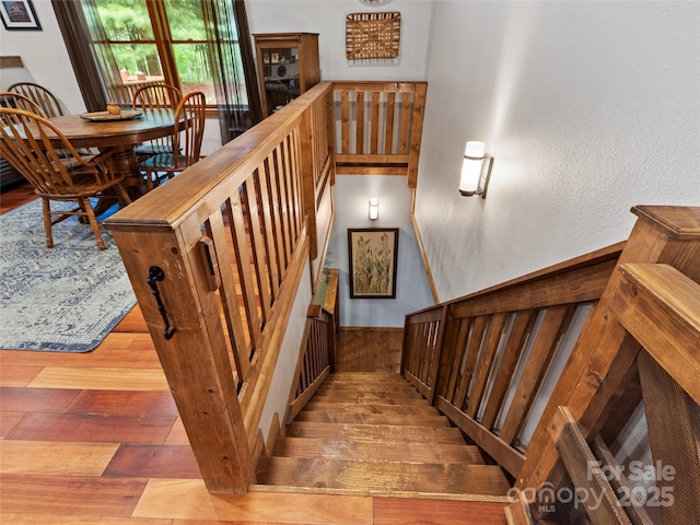
[[149, 190], [199, 161], [206, 107], [205, 94], [199, 91], [185, 95], [179, 102], [175, 110], [173, 151], [155, 154], [139, 164]]

